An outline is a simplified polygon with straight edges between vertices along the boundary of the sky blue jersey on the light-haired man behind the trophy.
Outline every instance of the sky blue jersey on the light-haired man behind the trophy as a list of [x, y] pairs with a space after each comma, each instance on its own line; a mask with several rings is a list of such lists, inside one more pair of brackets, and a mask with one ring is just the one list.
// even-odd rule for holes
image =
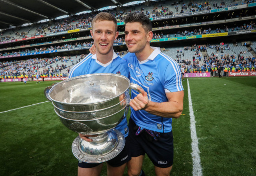
[[[96, 54], [88, 54], [82, 61], [71, 68], [69, 78], [93, 73], [114, 73], [129, 77], [127, 62], [114, 52], [112, 60], [107, 64], [99, 62]], [[128, 136], [129, 133], [126, 118], [117, 125], [116, 129], [122, 132], [124, 137]]]

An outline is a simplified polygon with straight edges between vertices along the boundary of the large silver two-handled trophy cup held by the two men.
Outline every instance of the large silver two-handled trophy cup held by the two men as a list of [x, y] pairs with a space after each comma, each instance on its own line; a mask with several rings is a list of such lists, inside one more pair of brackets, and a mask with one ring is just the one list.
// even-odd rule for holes
[[72, 143], [77, 159], [101, 163], [117, 156], [124, 148], [125, 138], [114, 129], [128, 112], [129, 89], [138, 90], [127, 77], [96, 73], [73, 77], [45, 88], [60, 121], [70, 130], [94, 135], [92, 142], [79, 136]]

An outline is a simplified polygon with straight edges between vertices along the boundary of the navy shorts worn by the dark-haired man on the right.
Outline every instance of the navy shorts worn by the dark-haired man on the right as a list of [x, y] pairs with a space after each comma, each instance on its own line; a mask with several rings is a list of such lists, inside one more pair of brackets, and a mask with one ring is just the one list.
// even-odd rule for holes
[[129, 120], [128, 127], [132, 157], [147, 153], [148, 158], [157, 167], [166, 168], [173, 165], [173, 131], [160, 133], [160, 137], [155, 141], [149, 140], [149, 135], [145, 131], [136, 136], [137, 126], [132, 118]]

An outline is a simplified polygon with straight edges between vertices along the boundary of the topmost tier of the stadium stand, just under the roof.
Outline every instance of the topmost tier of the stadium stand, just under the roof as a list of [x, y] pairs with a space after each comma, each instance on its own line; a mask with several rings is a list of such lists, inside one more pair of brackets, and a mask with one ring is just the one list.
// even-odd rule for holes
[[[252, 2], [253, 1], [249, 3], [252, 3]], [[184, 11], [184, 13], [189, 13], [189, 12], [198, 11], [198, 10], [199, 11], [207, 10], [205, 8], [201, 9], [200, 8], [201, 6], [210, 7], [210, 9], [219, 9], [223, 7], [232, 7], [232, 6], [245, 4], [245, 2], [243, 1], [233, 2], [233, 0], [228, 0], [228, 1], [216, 0], [214, 3], [208, 2], [208, 5], [205, 5], [205, 3], [207, 2], [202, 1], [202, 2], [192, 3], [189, 0], [186, 0], [178, 4], [173, 3], [172, 1], [160, 1], [160, 2], [153, 2], [152, 6], [151, 4], [147, 3], [147, 4], [141, 4], [135, 7], [134, 6], [127, 7], [123, 9], [121, 12], [117, 12], [117, 13], [115, 13], [114, 11], [109, 11], [109, 12], [115, 15], [118, 18], [119, 22], [123, 22], [124, 16], [128, 13], [145, 13], [148, 15], [150, 14], [150, 17], [156, 17], [156, 16], [172, 15], [173, 12], [176, 11], [177, 7], [178, 9], [185, 9], [185, 7], [187, 7], [187, 10]], [[213, 4], [217, 4], [217, 7]], [[169, 14], [168, 12], [172, 12], [172, 13]], [[50, 21], [48, 22], [48, 24], [35, 24], [29, 27], [21, 27], [20, 29], [15, 29], [15, 31], [13, 30], [1, 31], [0, 33], [1, 41], [14, 40], [19, 38], [38, 36], [38, 35], [44, 35], [44, 34], [46, 35], [50, 33], [57, 33], [61, 31], [67, 31], [67, 30], [73, 30], [73, 29], [89, 28], [91, 27], [91, 20], [94, 15], [95, 13], [74, 15], [69, 18], [57, 20], [56, 22]]]

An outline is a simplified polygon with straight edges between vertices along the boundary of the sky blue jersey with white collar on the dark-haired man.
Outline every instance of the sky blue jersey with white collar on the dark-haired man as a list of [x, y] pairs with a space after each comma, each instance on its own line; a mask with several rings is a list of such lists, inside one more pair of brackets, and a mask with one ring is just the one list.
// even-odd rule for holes
[[[145, 61], [139, 62], [135, 53], [127, 53], [123, 58], [128, 62], [131, 83], [141, 86], [150, 101], [166, 102], [165, 93], [183, 90], [180, 67], [171, 57], [161, 53], [160, 48], [151, 48], [154, 51]], [[132, 90], [132, 98], [137, 94]], [[172, 130], [172, 118], [156, 116], [144, 110], [135, 111], [132, 107], [131, 118], [136, 125], [149, 130]]]

